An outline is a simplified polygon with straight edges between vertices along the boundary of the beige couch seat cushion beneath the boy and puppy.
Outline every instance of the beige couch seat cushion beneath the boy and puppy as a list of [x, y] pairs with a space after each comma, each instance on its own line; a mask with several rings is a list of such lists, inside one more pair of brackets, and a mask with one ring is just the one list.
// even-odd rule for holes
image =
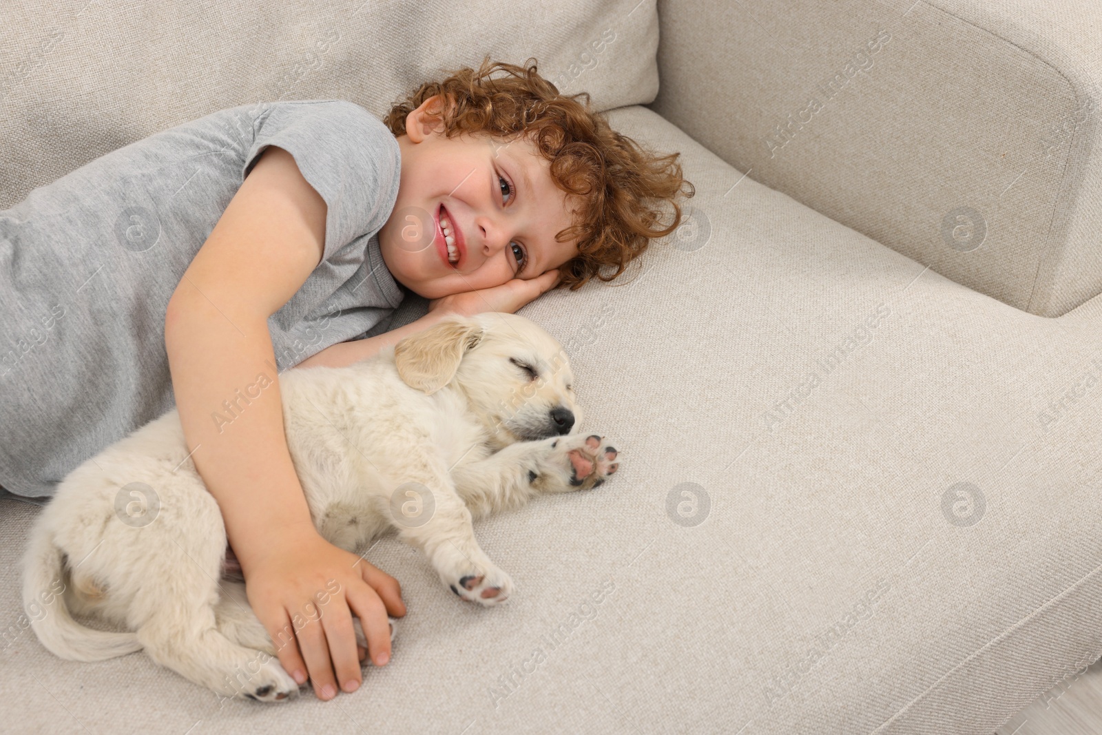
[[[770, 191], [653, 112], [685, 227], [519, 313], [571, 355], [596, 491], [476, 522], [517, 583], [476, 609], [386, 537], [393, 660], [352, 695], [220, 703], [144, 653], [25, 627], [36, 509], [0, 500], [0, 687], [24, 732], [991, 733], [1102, 653], [1102, 300], [1047, 320]], [[634, 275], [633, 275], [634, 273]], [[425, 307], [411, 296], [393, 326]], [[743, 729], [739, 729], [743, 728]]]

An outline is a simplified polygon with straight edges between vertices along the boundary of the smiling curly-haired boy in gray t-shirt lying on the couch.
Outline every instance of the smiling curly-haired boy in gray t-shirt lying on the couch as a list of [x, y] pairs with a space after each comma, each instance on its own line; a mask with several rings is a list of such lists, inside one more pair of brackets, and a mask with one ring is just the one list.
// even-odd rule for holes
[[[280, 663], [323, 700], [354, 691], [352, 616], [381, 666], [406, 608], [393, 577], [317, 533], [279, 371], [371, 357], [450, 313], [514, 313], [603, 266], [611, 281], [692, 196], [677, 153], [649, 155], [533, 61], [458, 69], [382, 122], [343, 100], [222, 110], [0, 212], [7, 497], [47, 500], [175, 404], [252, 609], [273, 640], [293, 630]], [[430, 312], [388, 332], [403, 289]]]

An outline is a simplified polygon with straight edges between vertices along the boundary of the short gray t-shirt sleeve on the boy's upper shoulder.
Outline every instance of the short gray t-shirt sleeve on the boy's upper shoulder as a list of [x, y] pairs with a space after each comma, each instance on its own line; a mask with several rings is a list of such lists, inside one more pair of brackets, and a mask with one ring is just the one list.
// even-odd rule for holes
[[386, 224], [398, 198], [398, 141], [359, 105], [343, 99], [261, 105], [241, 166], [242, 182], [268, 145], [291, 153], [303, 177], [325, 199], [322, 260]]

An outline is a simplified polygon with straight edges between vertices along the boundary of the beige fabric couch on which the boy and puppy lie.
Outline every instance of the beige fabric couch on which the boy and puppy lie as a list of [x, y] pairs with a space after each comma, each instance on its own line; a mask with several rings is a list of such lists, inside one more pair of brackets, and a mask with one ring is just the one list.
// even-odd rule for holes
[[0, 10], [0, 208], [226, 107], [381, 116], [484, 53], [680, 151], [698, 195], [615, 285], [519, 312], [623, 464], [477, 525], [507, 605], [386, 538], [389, 666], [219, 703], [46, 652], [37, 508], [3, 500], [0, 731], [988, 735], [1102, 655], [1094, 0], [34, 4]]

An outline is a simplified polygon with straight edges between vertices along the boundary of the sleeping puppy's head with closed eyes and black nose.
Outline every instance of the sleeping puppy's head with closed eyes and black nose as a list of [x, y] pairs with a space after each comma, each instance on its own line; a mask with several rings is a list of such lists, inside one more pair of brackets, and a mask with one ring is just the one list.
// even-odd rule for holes
[[425, 393], [462, 390], [499, 446], [569, 434], [582, 422], [566, 352], [516, 314], [450, 315], [395, 345], [395, 365]]

